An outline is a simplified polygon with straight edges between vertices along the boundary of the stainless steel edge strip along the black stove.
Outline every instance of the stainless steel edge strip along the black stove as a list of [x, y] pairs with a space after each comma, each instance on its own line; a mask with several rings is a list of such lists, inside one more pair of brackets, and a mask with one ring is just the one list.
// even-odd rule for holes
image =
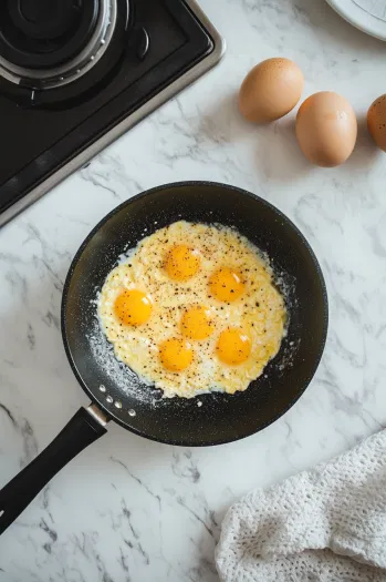
[[70, 174], [74, 173], [76, 170], [84, 166], [102, 150], [104, 150], [115, 140], [121, 137], [121, 135], [126, 133], [131, 127], [136, 125], [140, 120], [149, 115], [153, 111], [159, 108], [163, 103], [165, 103], [166, 101], [169, 101], [180, 91], [182, 91], [188, 85], [194, 83], [197, 79], [202, 76], [206, 72], [212, 69], [221, 60], [221, 58], [223, 57], [226, 52], [226, 42], [223, 38], [220, 35], [218, 30], [208, 19], [208, 17], [202, 12], [201, 8], [199, 7], [196, 0], [185, 0], [185, 2], [190, 8], [190, 10], [196, 14], [198, 20], [205, 25], [208, 33], [212, 38], [215, 42], [215, 49], [212, 50], [212, 52], [208, 57], [206, 57], [202, 61], [200, 61], [197, 65], [192, 67], [189, 71], [187, 71], [184, 75], [177, 79], [174, 83], [171, 83], [166, 89], [164, 89], [160, 93], [158, 93], [153, 99], [147, 101], [142, 108], [135, 111], [132, 115], [129, 115], [128, 118], [123, 120], [121, 123], [118, 123], [108, 133], [100, 137], [90, 147], [81, 152], [76, 157], [74, 157], [63, 167], [58, 170], [58, 172], [52, 174], [48, 180], [45, 180], [42, 184], [40, 184], [34, 190], [32, 190], [23, 198], [21, 198], [15, 204], [13, 204], [10, 208], [8, 208], [2, 214], [0, 214], [0, 227], [7, 224], [12, 218], [14, 218], [14, 216], [20, 214], [28, 206], [36, 202], [41, 196], [46, 194], [50, 190], [56, 186], [60, 182], [66, 178]]

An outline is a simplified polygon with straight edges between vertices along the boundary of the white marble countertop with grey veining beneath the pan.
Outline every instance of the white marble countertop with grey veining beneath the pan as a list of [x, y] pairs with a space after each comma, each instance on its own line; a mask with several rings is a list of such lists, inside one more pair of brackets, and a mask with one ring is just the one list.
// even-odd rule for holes
[[[386, 419], [386, 155], [365, 113], [386, 91], [386, 45], [324, 0], [201, 0], [222, 63], [0, 233], [0, 486], [87, 404], [62, 347], [61, 290], [77, 246], [108, 211], [157, 184], [231, 183], [269, 200], [316, 252], [328, 286], [323, 361], [300, 401], [232, 445], [179, 449], [118, 426], [45, 488], [1, 539], [1, 582], [215, 582], [232, 500], [351, 447]], [[359, 120], [342, 167], [311, 167], [294, 114], [244, 123], [234, 94], [255, 62], [285, 55], [305, 94], [331, 89]]]

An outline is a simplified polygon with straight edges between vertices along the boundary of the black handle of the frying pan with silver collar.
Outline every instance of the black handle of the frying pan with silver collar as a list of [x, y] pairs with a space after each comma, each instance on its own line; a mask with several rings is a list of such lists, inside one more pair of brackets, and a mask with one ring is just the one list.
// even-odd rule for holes
[[95, 405], [80, 408], [58, 437], [3, 487], [0, 535], [67, 462], [106, 432], [106, 422]]

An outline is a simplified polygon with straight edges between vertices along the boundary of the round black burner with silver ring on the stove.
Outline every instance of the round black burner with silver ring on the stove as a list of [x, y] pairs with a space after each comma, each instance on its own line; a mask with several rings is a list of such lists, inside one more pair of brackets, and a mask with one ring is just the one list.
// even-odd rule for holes
[[0, 75], [31, 89], [83, 76], [112, 40], [117, 0], [8, 0], [0, 7]]

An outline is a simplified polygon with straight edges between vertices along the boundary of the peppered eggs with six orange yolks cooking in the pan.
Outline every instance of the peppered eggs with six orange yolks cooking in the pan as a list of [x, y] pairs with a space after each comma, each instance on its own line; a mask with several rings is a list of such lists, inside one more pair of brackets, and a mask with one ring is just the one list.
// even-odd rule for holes
[[166, 397], [246, 390], [279, 351], [284, 300], [268, 262], [223, 226], [177, 222], [107, 276], [98, 315], [116, 357]]

